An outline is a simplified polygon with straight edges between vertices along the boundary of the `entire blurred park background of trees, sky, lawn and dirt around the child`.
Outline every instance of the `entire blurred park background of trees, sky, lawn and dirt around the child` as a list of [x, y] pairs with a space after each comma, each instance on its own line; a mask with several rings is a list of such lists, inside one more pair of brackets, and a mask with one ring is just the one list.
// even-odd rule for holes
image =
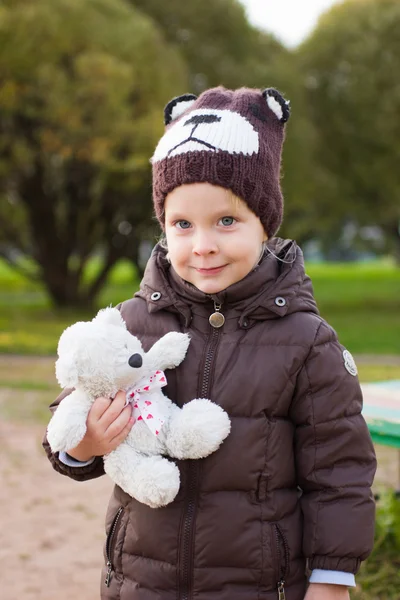
[[353, 598], [400, 598], [399, 31], [398, 0], [1, 2], [2, 598], [98, 598], [109, 482], [64, 481], [40, 450], [57, 341], [138, 288], [163, 108], [220, 84], [291, 101], [279, 235], [355, 355], [380, 463]]

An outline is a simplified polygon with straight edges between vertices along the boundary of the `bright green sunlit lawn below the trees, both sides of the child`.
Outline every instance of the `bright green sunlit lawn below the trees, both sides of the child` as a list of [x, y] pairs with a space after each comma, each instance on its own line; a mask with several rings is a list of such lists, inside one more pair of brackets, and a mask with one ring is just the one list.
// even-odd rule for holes
[[[85, 274], [99, 268], [93, 260]], [[400, 354], [400, 268], [382, 261], [309, 264], [321, 315], [353, 354]], [[129, 262], [121, 261], [98, 300], [115, 305], [138, 289]], [[27, 281], [0, 261], [0, 353], [54, 354], [65, 327], [93, 311], [56, 311], [39, 284]]]

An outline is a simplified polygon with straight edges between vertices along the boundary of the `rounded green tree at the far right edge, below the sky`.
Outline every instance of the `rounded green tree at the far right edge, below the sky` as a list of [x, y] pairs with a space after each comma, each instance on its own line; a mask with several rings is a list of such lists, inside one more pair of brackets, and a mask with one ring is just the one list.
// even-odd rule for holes
[[400, 261], [400, 3], [348, 0], [303, 44], [299, 61], [318, 132], [316, 222], [379, 225]]

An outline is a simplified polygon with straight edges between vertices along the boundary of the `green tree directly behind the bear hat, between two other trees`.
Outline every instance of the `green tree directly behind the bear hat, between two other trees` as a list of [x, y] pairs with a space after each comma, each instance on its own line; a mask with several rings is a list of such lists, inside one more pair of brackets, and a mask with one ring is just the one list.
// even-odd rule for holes
[[277, 87], [291, 100], [293, 118], [287, 126], [283, 156], [285, 219], [281, 233], [300, 241], [310, 237], [314, 225], [311, 198], [315, 196], [315, 132], [294, 53], [273, 35], [252, 26], [237, 0], [130, 2], [154, 20], [186, 61], [189, 87], [177, 89], [175, 95], [199, 94], [218, 85], [233, 89]]

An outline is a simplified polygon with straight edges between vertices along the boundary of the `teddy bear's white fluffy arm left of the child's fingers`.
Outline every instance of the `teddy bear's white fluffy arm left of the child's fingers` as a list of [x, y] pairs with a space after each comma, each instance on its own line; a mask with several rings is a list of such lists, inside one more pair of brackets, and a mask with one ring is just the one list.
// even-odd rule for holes
[[47, 427], [47, 439], [53, 452], [68, 452], [82, 441], [92, 403], [82, 390], [74, 390], [60, 403]]

